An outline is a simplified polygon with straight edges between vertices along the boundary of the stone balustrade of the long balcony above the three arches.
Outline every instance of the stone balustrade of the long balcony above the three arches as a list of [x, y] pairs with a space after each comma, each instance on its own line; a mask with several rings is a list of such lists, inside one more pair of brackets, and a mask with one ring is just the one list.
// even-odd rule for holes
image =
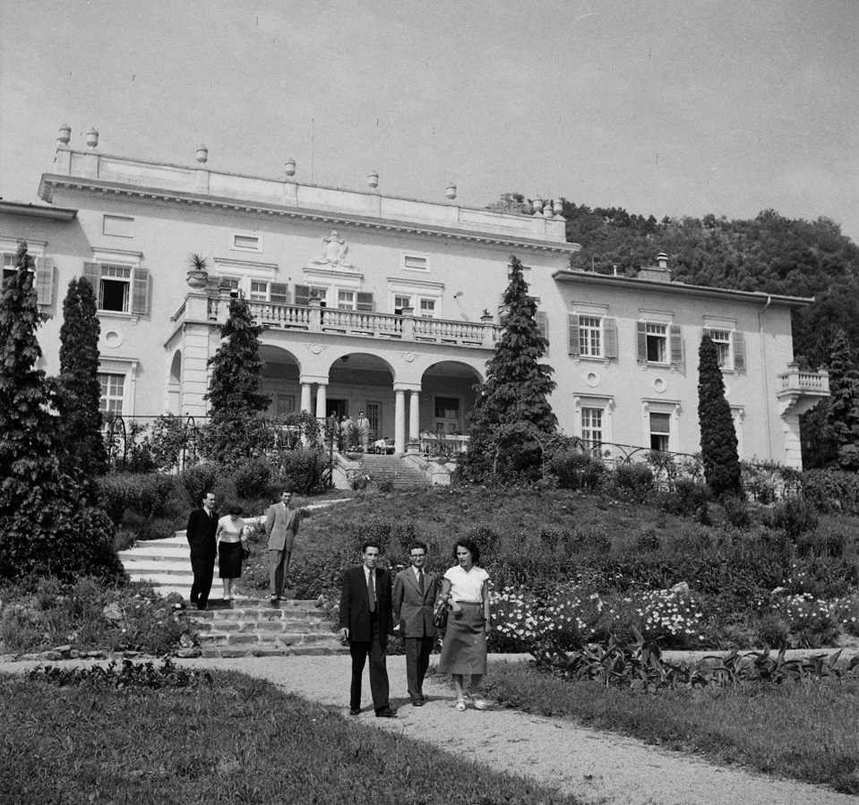
[[[493, 349], [502, 329], [488, 321], [422, 319], [411, 315], [337, 310], [314, 300], [304, 304], [248, 303], [254, 320], [268, 330], [329, 333], [350, 338], [376, 338], [452, 347]], [[228, 296], [191, 293], [176, 311], [174, 324], [207, 321], [223, 324], [229, 312]]]

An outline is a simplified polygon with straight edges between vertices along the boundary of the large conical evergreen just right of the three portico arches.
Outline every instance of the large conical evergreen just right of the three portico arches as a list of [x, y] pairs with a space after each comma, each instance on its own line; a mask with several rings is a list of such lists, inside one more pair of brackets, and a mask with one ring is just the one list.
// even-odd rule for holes
[[[530, 427], [546, 435], [557, 427], [548, 396], [555, 388], [553, 369], [541, 364], [548, 342], [537, 326], [537, 302], [528, 295], [522, 264], [510, 260], [510, 282], [504, 292], [507, 320], [492, 359], [486, 364], [486, 381], [471, 415], [471, 457], [474, 466], [485, 468], [488, 450], [495, 450], [494, 436], [504, 426]], [[509, 431], [509, 427], [506, 429]], [[511, 469], [520, 471], [525, 456], [508, 457]], [[536, 458], [532, 456], [531, 458]]]

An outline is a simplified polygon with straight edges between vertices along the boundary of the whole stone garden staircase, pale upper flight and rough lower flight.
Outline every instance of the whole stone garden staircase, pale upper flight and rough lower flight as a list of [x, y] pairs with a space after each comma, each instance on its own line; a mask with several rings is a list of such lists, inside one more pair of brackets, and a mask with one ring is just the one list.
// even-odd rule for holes
[[[185, 532], [168, 539], [142, 542], [119, 558], [133, 581], [148, 582], [159, 595], [176, 593], [189, 605], [193, 573]], [[223, 599], [215, 569], [206, 612], [187, 609], [197, 625], [196, 642], [204, 657], [330, 655], [348, 652], [331, 631], [327, 613], [314, 601], [271, 604], [239, 595]]]

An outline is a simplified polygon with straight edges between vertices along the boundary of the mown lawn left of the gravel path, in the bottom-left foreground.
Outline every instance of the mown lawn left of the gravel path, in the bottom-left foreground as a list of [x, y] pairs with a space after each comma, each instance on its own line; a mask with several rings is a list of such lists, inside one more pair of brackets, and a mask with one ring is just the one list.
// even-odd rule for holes
[[210, 685], [57, 688], [0, 676], [0, 791], [34, 802], [574, 805], [523, 778], [352, 724], [235, 672]]

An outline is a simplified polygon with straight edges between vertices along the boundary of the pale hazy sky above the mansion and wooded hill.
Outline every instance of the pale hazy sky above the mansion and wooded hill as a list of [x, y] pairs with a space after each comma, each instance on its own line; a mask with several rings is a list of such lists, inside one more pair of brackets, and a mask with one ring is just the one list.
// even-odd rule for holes
[[859, 241], [857, 0], [0, 0], [0, 195], [99, 151], [484, 207], [832, 218]]

